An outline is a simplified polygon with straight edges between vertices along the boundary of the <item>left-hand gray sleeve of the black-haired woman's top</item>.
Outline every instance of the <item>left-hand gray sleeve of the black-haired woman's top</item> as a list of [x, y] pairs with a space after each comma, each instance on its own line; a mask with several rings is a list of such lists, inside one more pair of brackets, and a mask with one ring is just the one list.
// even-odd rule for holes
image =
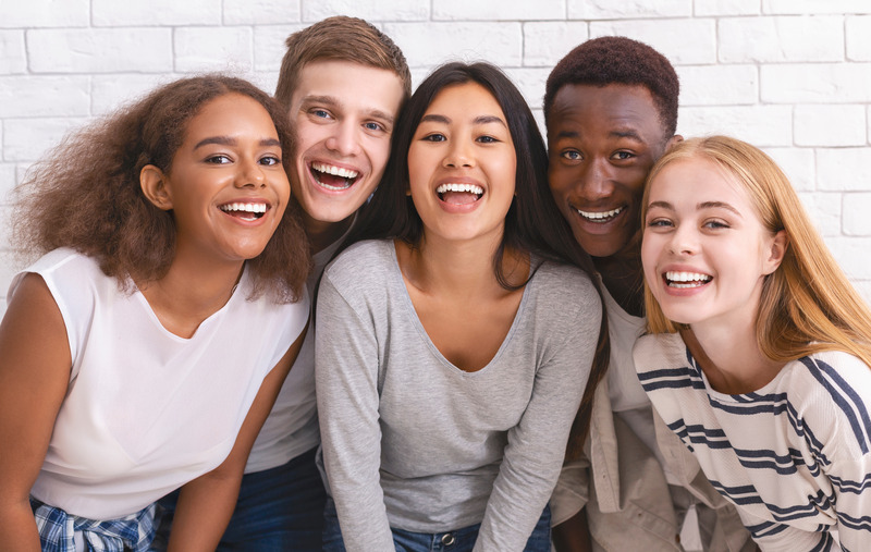
[[394, 550], [379, 469], [375, 329], [323, 277], [318, 293], [315, 376], [323, 464], [348, 552]]

